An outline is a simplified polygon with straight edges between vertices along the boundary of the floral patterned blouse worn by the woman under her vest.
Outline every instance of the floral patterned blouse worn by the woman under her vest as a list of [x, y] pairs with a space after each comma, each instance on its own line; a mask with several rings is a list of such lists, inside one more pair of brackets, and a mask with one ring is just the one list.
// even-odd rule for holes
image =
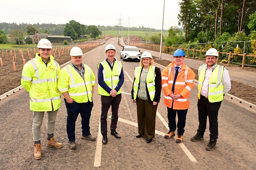
[[148, 70], [142, 69], [140, 75], [140, 85], [138, 89], [138, 98], [141, 100], [148, 100], [147, 91], [146, 91], [146, 77], [147, 77]]

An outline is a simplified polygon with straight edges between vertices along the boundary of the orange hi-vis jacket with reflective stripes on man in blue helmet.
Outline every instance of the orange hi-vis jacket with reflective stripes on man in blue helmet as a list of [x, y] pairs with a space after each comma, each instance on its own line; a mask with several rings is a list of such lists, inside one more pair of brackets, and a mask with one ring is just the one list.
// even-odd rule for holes
[[[169, 97], [169, 94], [173, 93], [171, 89], [174, 76], [175, 67], [174, 62], [172, 62], [162, 71], [163, 104], [169, 108], [172, 107], [173, 101], [171, 97]], [[194, 78], [195, 73], [183, 63], [174, 86], [174, 95], [180, 94], [182, 97], [173, 101], [173, 109], [184, 110], [189, 107], [189, 96], [191, 90], [194, 88]]]

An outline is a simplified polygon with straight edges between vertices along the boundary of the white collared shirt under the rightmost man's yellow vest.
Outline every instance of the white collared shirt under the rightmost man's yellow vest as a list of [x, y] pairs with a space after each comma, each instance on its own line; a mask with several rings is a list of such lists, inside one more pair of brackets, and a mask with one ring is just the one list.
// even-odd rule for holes
[[[212, 70], [216, 66], [217, 66], [217, 63], [215, 63], [215, 65], [212, 66], [210, 69], [208, 69], [207, 65], [205, 67], [205, 69], [206, 69], [205, 78], [203, 80], [202, 89], [201, 89], [201, 95], [202, 96], [208, 97], [209, 80], [210, 80], [210, 77], [211, 77]], [[228, 70], [225, 67], [224, 67], [224, 70], [223, 70], [223, 75], [222, 75], [221, 81], [224, 85], [224, 94], [226, 94], [231, 89], [231, 82], [230, 82], [230, 77], [229, 77], [229, 74], [228, 74]]]

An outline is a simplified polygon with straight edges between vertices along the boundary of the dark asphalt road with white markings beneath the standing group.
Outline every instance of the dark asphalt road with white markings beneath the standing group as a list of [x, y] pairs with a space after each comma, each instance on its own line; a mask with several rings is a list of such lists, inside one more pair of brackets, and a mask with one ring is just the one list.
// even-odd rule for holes
[[[108, 43], [115, 44], [116, 58], [120, 60], [121, 48], [117, 45], [117, 38], [110, 39], [106, 44]], [[105, 45], [88, 52], [83, 57], [83, 62], [92, 68], [96, 77], [96, 65], [106, 58]], [[54, 136], [57, 141], [64, 144], [64, 147], [46, 148], [45, 116], [42, 125], [43, 158], [35, 160], [31, 130], [33, 115], [29, 110], [29, 94], [22, 89], [0, 101], [0, 169], [255, 169], [256, 114], [228, 100], [223, 100], [219, 110], [219, 139], [216, 148], [213, 151], [205, 150], [209, 142], [209, 123], [204, 140], [190, 141], [198, 127], [196, 85], [191, 92], [183, 143], [177, 144], [175, 138], [163, 137], [168, 131], [168, 119], [162, 99], [157, 109], [159, 114], [156, 118], [156, 135], [152, 143], [147, 144], [143, 137], [136, 138], [136, 105], [131, 102], [130, 91], [134, 67], [139, 63], [122, 63], [125, 81], [119, 108], [120, 119], [116, 129], [121, 139], [116, 139], [109, 133], [108, 144], [101, 143], [102, 136], [99, 133], [101, 103], [96, 83], [90, 127], [92, 135], [97, 136], [97, 141], [81, 139], [78, 117], [76, 125], [78, 149], [73, 151], [68, 148], [65, 125], [67, 114], [62, 102], [56, 118]], [[110, 118], [108, 125], [110, 126]]]

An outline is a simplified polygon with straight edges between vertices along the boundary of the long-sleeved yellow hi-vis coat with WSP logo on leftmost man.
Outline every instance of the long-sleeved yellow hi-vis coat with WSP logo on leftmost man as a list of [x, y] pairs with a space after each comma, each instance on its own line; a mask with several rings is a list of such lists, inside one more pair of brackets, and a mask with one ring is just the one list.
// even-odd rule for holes
[[60, 91], [57, 88], [60, 66], [50, 55], [50, 62], [46, 67], [39, 54], [23, 66], [21, 85], [29, 92], [30, 110], [52, 111], [53, 104], [55, 111], [61, 105]]

